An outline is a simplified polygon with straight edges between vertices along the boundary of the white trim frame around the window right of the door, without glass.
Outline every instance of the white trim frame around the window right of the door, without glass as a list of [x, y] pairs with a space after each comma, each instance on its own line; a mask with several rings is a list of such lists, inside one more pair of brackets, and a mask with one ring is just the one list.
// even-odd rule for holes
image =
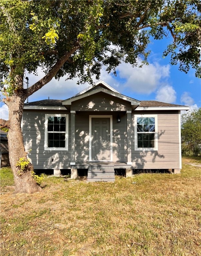
[[[138, 148], [137, 147], [137, 117], [155, 117], [155, 148]], [[134, 116], [134, 144], [135, 151], [157, 151], [158, 150], [158, 115], [135, 115]]]

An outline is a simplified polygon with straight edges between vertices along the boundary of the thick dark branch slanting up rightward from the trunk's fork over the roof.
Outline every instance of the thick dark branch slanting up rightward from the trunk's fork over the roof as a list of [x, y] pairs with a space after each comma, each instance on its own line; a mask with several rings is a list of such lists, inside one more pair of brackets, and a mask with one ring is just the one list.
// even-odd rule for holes
[[57, 74], [59, 69], [63, 66], [63, 64], [68, 61], [69, 57], [77, 50], [80, 46], [75, 46], [70, 52], [66, 52], [62, 58], [60, 58], [54, 66], [50, 69], [47, 75], [45, 75], [42, 79], [40, 79], [38, 82], [33, 84], [31, 87], [26, 89], [26, 97], [32, 95], [34, 92], [38, 91], [40, 88], [42, 88], [45, 84], [50, 82], [52, 78]]

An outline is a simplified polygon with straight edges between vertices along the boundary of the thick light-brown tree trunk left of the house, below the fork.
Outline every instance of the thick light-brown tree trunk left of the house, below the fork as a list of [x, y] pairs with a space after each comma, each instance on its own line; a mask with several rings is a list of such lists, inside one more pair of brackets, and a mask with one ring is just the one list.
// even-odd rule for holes
[[15, 193], [34, 193], [40, 191], [41, 187], [32, 178], [33, 165], [30, 163], [21, 175], [18, 173], [19, 167], [16, 167], [20, 158], [27, 159], [21, 129], [24, 100], [22, 93], [15, 93], [6, 102], [9, 108], [9, 159], [14, 174]]

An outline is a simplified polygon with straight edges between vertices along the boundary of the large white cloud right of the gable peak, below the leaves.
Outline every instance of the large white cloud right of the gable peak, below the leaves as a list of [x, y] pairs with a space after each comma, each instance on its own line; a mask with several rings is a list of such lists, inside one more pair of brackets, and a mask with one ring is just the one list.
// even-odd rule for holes
[[155, 62], [139, 68], [139, 66], [132, 67], [130, 64], [121, 63], [117, 71], [121, 78], [126, 79], [124, 85], [130, 90], [150, 94], [161, 85], [162, 79], [169, 77], [170, 65], [161, 66]]

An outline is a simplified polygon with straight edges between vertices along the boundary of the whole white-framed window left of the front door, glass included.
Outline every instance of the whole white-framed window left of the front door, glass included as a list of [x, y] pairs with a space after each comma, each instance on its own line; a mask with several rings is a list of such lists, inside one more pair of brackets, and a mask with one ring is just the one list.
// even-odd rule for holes
[[68, 150], [68, 115], [45, 115], [45, 150]]

